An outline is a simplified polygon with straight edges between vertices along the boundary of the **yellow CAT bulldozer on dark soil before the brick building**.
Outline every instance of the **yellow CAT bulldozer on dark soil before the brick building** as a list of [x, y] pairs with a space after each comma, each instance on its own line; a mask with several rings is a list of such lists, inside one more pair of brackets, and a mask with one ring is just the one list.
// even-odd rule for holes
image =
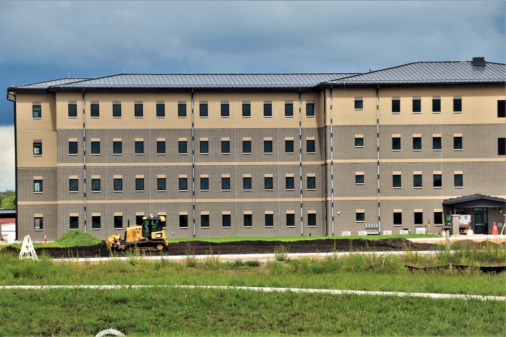
[[163, 224], [165, 217], [142, 218], [142, 225], [126, 227], [124, 236], [113, 234], [106, 240], [107, 250], [125, 250], [137, 247], [143, 251], [162, 251], [167, 248], [168, 242], [165, 239]]

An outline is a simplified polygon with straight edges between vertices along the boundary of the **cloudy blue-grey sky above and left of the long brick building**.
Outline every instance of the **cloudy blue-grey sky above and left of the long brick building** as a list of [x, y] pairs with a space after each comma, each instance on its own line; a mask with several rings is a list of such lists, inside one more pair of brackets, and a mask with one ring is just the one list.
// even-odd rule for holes
[[[506, 63], [505, 4], [0, 1], [0, 84], [123, 72], [366, 72], [475, 56]], [[14, 124], [5, 94], [3, 145]], [[14, 188], [11, 152], [0, 149], [0, 190]]]

